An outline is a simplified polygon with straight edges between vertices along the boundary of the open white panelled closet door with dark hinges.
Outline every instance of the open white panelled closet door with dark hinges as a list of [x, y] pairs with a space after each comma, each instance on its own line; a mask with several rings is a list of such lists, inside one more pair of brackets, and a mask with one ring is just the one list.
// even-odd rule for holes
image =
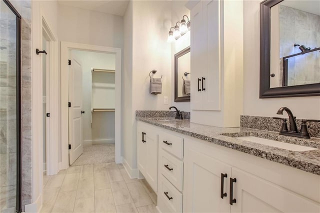
[[[71, 55], [72, 56], [72, 55]], [[82, 147], [82, 66], [71, 57], [69, 67], [69, 164], [83, 151]]]

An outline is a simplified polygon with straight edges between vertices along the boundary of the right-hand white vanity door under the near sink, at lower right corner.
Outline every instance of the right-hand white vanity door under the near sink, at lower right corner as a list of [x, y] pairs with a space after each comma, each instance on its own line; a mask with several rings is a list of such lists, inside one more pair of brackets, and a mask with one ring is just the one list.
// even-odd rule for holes
[[236, 178], [233, 183], [236, 202], [231, 205], [231, 212], [320, 212], [320, 203], [240, 169], [232, 168], [232, 177]]

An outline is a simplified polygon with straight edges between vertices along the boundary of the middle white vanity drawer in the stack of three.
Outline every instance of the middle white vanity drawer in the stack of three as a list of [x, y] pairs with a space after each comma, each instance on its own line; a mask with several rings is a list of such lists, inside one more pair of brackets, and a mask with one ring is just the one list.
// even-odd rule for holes
[[160, 172], [180, 191], [182, 191], [183, 162], [164, 149], [159, 152]]

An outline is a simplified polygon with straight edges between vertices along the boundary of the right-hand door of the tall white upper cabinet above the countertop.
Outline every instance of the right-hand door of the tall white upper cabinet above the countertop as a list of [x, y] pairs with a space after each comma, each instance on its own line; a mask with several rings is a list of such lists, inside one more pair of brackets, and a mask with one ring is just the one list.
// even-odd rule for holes
[[[202, 25], [205, 26], [206, 46], [203, 48], [205, 58], [205, 73], [203, 84], [204, 110], [220, 110], [220, 0], [202, 1]], [[193, 26], [193, 25], [192, 25]], [[202, 88], [201, 88], [202, 89]], [[193, 98], [193, 97], [192, 97]]]

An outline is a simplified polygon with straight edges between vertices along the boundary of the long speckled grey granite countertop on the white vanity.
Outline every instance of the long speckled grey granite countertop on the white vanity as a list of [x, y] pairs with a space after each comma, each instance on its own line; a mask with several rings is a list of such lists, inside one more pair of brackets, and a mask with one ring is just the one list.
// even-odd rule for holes
[[[274, 131], [265, 131], [244, 127], [221, 128], [191, 123], [189, 119], [177, 120], [172, 117], [137, 116], [136, 119], [181, 134], [206, 140], [208, 142], [320, 175], [320, 138], [311, 137], [310, 139], [304, 139], [279, 135], [278, 132]], [[249, 135], [310, 146], [318, 149], [308, 151], [291, 151], [236, 138], [237, 136]]]

